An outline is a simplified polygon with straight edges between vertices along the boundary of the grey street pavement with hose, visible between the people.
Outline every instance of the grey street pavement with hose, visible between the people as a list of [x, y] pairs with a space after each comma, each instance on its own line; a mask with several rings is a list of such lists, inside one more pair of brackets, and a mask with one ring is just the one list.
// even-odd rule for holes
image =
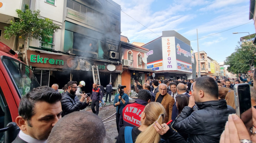
[[[134, 97], [136, 95], [136, 93], [132, 93], [131, 96], [129, 97]], [[109, 116], [113, 115], [116, 112], [116, 107], [113, 106], [114, 103], [114, 98], [115, 96], [111, 96], [112, 99], [112, 103], [106, 103], [105, 106], [103, 106], [102, 109], [100, 109], [99, 111], [99, 117], [103, 120], [108, 118]], [[103, 97], [103, 100], [105, 101], [106, 97]], [[135, 99], [130, 99], [129, 102], [134, 102]], [[91, 106], [85, 108], [86, 111], [88, 112], [92, 112], [91, 110]], [[109, 120], [115, 119], [116, 116], [113, 115], [112, 117], [110, 117], [109, 119], [103, 121], [103, 122], [107, 122]], [[105, 137], [105, 141], [104, 143], [115, 143], [115, 137], [118, 135], [117, 133], [117, 129], [116, 129], [116, 120], [107, 122], [104, 124], [105, 125], [105, 129], [106, 129], [106, 137]]]

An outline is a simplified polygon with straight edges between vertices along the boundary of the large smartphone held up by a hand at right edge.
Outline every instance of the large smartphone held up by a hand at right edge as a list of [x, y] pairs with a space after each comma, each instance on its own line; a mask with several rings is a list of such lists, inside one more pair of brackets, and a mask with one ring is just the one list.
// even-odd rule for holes
[[234, 86], [234, 91], [236, 114], [243, 121], [245, 127], [251, 135], [251, 129], [253, 125], [250, 86], [248, 83], [236, 84]]

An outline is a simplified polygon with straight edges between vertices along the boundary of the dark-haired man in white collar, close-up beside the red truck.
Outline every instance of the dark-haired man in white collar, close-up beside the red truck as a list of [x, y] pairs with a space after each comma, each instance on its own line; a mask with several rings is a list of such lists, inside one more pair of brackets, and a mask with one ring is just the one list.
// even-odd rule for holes
[[53, 126], [61, 118], [61, 94], [40, 86], [20, 100], [16, 123], [20, 133], [13, 143], [46, 143]]

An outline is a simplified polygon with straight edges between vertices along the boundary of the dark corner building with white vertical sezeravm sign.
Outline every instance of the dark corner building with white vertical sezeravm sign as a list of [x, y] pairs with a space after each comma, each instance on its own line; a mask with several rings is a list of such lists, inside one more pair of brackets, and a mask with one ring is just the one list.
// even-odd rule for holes
[[163, 31], [161, 37], [142, 47], [149, 49], [147, 69], [156, 71], [154, 79], [193, 77], [194, 52], [189, 40], [178, 32]]

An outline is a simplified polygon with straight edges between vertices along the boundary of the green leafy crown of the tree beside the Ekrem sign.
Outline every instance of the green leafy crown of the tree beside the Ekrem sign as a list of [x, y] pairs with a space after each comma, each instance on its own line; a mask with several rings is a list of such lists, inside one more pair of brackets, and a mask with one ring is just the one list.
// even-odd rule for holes
[[54, 24], [52, 20], [49, 20], [49, 18], [40, 18], [40, 10], [32, 12], [27, 7], [24, 12], [19, 9], [16, 9], [16, 12], [19, 20], [16, 22], [11, 21], [9, 27], [4, 27], [6, 29], [4, 37], [6, 39], [19, 35], [24, 39], [31, 37], [43, 42], [49, 42], [49, 35], [52, 35], [60, 29], [60, 27]]

